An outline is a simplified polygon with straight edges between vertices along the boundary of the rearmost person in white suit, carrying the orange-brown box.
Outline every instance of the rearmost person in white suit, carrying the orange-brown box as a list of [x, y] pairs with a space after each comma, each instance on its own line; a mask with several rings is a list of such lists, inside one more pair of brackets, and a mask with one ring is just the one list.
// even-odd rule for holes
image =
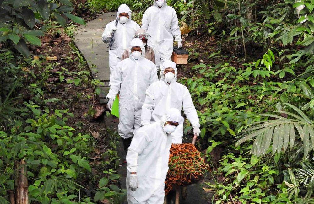
[[173, 38], [182, 47], [180, 27], [175, 9], [164, 0], [157, 0], [143, 14], [142, 28], [147, 30], [151, 38], [147, 44], [154, 49], [157, 68], [165, 60], [171, 60]]

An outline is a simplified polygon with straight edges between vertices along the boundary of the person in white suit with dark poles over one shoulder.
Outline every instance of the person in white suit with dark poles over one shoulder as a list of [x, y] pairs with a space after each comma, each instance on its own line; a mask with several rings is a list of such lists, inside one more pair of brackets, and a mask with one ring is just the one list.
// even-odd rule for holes
[[102, 34], [102, 41], [109, 43], [113, 31], [116, 30], [112, 49], [109, 50], [110, 74], [112, 74], [116, 65], [121, 61], [123, 52], [130, 46], [135, 32], [140, 28], [139, 25], [131, 19], [131, 10], [126, 4], [121, 4], [119, 7], [117, 18], [119, 18], [117, 26], [115, 26], [116, 20], [111, 21], [106, 25], [105, 31]]

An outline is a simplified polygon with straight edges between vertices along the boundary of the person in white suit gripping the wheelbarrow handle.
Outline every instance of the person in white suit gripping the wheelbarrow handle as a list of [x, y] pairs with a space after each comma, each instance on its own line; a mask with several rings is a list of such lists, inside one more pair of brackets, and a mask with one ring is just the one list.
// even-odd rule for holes
[[[159, 121], [169, 108], [183, 111], [193, 126], [194, 134], [200, 134], [198, 115], [189, 90], [177, 83], [176, 63], [167, 60], [160, 70], [161, 78], [146, 90], [146, 98], [142, 107], [142, 124]], [[172, 143], [181, 144], [183, 136], [183, 118], [176, 131], [172, 133]]]

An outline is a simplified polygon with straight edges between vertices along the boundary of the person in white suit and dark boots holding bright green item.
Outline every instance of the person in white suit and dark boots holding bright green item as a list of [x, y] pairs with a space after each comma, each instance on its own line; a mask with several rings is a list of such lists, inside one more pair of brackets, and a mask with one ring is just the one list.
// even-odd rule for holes
[[145, 91], [158, 81], [156, 65], [145, 59], [143, 42], [134, 38], [131, 41], [129, 58], [122, 60], [110, 76], [110, 91], [107, 94], [107, 107], [111, 110], [116, 94], [119, 94], [119, 135], [127, 152], [133, 131], [141, 126], [141, 110]]

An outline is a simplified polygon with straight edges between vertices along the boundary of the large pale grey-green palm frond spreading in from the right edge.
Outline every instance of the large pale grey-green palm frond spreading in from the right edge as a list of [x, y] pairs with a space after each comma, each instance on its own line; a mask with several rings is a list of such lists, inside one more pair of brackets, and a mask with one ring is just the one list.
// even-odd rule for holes
[[288, 146], [292, 149], [295, 143], [295, 129], [303, 141], [303, 154], [306, 157], [311, 150], [311, 145], [314, 145], [314, 121], [294, 105], [284, 103], [286, 106], [293, 109], [295, 113], [278, 110], [275, 112], [284, 113], [291, 118], [284, 118], [272, 114], [260, 114], [262, 116], [276, 118], [274, 120], [259, 121], [253, 123], [251, 127], [242, 130], [237, 137], [239, 140], [236, 146], [243, 142], [254, 139], [251, 153], [261, 156], [265, 154], [270, 147], [272, 141], [272, 154], [285, 151]]

